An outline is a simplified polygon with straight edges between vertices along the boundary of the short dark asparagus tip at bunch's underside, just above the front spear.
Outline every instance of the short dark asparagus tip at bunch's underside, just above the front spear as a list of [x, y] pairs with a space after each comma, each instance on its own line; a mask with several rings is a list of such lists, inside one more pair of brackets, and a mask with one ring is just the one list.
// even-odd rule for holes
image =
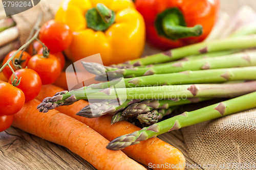
[[158, 123], [158, 120], [161, 120], [163, 116], [171, 114], [175, 109], [180, 106], [172, 106], [168, 109], [157, 109], [147, 112], [145, 114], [139, 114], [137, 118], [141, 124], [152, 125]]

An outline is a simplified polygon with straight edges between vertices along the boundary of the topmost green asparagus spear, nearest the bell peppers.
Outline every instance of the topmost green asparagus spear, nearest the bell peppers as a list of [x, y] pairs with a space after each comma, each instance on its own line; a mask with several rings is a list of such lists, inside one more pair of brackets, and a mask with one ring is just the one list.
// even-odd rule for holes
[[209, 42], [199, 42], [192, 45], [187, 45], [163, 53], [131, 60], [123, 63], [123, 65], [142, 66], [157, 63], [164, 63], [178, 60], [190, 55], [216, 52], [222, 50], [231, 50], [238, 48], [250, 48], [256, 45], [256, 35], [246, 35], [239, 37], [228, 37], [219, 40], [212, 40]]

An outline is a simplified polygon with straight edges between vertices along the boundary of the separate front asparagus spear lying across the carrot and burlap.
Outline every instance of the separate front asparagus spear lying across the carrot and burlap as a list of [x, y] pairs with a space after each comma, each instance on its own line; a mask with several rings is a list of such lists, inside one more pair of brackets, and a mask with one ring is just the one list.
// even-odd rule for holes
[[205, 122], [206, 120], [212, 120], [254, 107], [256, 107], [256, 92], [239, 96], [238, 98], [207, 106], [195, 111], [184, 112], [150, 127], [135, 131], [134, 133], [119, 136], [112, 140], [106, 146], [106, 148], [110, 150], [121, 150], [125, 147], [129, 147], [130, 145], [137, 144], [140, 141], [156, 137], [165, 132], [195, 125]]

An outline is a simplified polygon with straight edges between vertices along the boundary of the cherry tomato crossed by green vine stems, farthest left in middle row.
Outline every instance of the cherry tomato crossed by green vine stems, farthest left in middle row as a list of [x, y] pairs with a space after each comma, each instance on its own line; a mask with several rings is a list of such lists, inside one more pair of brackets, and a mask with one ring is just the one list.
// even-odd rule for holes
[[[9, 58], [11, 58], [14, 53], [16, 53], [16, 50], [11, 51], [9, 54], [7, 54], [7, 56], [4, 58], [3, 64], [5, 64], [5, 63], [7, 62], [7, 60], [8, 60]], [[15, 59], [17, 60], [17, 59], [19, 58], [20, 54], [22, 54], [21, 51], [19, 51], [19, 52], [15, 55], [14, 61], [15, 61]], [[28, 64], [28, 62], [29, 62], [29, 60], [30, 60], [30, 58], [31, 58], [30, 54], [28, 54], [27, 52], [23, 52], [23, 54], [22, 54], [22, 63], [18, 63], [18, 64], [19, 64], [20, 66], [22, 66], [22, 68], [25, 68], [25, 67], [27, 66], [27, 64]], [[12, 64], [11, 61], [10, 61], [10, 65], [11, 65], [11, 67], [13, 68], [13, 70], [15, 71], [16, 68], [15, 68], [15, 66]], [[8, 65], [3, 69], [3, 72], [4, 72], [4, 75], [5, 75], [5, 77], [6, 77], [7, 79], [9, 79], [9, 78], [11, 77], [11, 75], [12, 75], [12, 70], [9, 68]]]

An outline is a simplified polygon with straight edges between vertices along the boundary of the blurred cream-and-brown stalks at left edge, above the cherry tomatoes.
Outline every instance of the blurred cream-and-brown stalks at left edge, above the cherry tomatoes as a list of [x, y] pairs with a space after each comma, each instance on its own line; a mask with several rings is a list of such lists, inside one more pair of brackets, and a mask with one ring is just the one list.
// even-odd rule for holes
[[19, 47], [18, 29], [12, 18], [0, 19], [0, 62], [12, 50]]

